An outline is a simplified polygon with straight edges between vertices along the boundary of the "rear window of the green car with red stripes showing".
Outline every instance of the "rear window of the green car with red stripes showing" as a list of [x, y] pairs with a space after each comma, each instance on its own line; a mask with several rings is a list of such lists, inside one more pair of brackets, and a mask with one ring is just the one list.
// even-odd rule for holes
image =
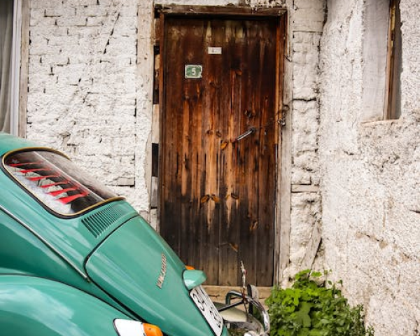
[[60, 215], [79, 214], [116, 197], [111, 190], [56, 152], [10, 153], [3, 165], [31, 195]]

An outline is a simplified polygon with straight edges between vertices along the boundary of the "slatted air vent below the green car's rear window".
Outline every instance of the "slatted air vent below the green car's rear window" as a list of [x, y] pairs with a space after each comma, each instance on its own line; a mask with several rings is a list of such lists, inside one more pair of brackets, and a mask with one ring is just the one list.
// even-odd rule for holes
[[95, 214], [82, 219], [83, 225], [87, 230], [94, 235], [95, 238], [102, 235], [102, 232], [106, 231], [113, 223], [118, 221], [118, 218], [125, 215], [126, 211], [123, 207], [109, 207], [102, 209]]

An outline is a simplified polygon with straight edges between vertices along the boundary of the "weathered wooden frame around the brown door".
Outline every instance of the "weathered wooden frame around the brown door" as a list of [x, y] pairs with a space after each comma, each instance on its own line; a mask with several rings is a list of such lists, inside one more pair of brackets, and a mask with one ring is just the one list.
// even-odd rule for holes
[[[164, 106], [162, 102], [165, 100], [164, 97], [164, 78], [163, 78], [163, 65], [165, 59], [163, 55], [165, 52], [163, 50], [163, 41], [164, 41], [164, 27], [165, 19], [169, 17], [212, 17], [212, 18], [233, 18], [233, 19], [252, 19], [252, 18], [277, 18], [278, 26], [276, 31], [276, 97], [275, 106], [277, 106], [277, 121], [279, 123], [279, 131], [277, 134], [278, 141], [278, 150], [276, 154], [276, 176], [275, 176], [275, 186], [276, 186], [276, 198], [274, 206], [274, 279], [273, 283], [279, 283], [281, 280], [281, 272], [286, 268], [286, 260], [288, 259], [288, 246], [289, 246], [289, 234], [290, 234], [290, 172], [288, 172], [287, 167], [282, 167], [282, 158], [288, 158], [290, 156], [290, 140], [286, 139], [286, 144], [283, 146], [282, 143], [282, 128], [284, 121], [286, 120], [285, 112], [288, 110], [288, 106], [285, 106], [283, 99], [285, 94], [285, 89], [290, 90], [290, 88], [285, 88], [285, 58], [288, 55], [286, 50], [287, 45], [287, 27], [288, 27], [288, 15], [286, 8], [274, 7], [274, 8], [251, 8], [251, 7], [241, 7], [241, 6], [183, 6], [183, 5], [157, 5], [155, 6], [155, 39], [158, 41], [158, 54], [160, 55], [160, 64], [158, 66], [160, 76], [158, 76], [157, 83], [155, 83], [155, 94], [158, 95], [159, 99], [159, 137], [160, 144], [162, 144], [162, 132], [163, 125], [161, 123], [162, 116], [164, 113]], [[156, 49], [156, 48], [155, 48]], [[155, 67], [156, 69], [156, 67]], [[157, 79], [157, 78], [155, 78]], [[289, 118], [287, 118], [289, 119]], [[288, 131], [287, 133], [289, 133]], [[288, 134], [290, 137], [290, 134]], [[159, 174], [162, 165], [160, 164], [162, 158], [159, 156]], [[283, 177], [284, 176], [284, 177]], [[160, 183], [159, 183], [160, 186]], [[283, 202], [283, 196], [286, 197], [285, 202]], [[279, 200], [282, 200], [281, 204]], [[160, 221], [160, 187], [158, 188], [158, 222]], [[285, 209], [288, 207], [288, 209]], [[159, 228], [160, 225], [158, 225]], [[282, 236], [285, 237], [282, 237]]]

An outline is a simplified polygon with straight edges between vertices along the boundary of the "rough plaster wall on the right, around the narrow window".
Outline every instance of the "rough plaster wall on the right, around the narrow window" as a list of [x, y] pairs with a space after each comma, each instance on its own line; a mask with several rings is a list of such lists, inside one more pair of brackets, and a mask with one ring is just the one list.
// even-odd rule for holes
[[[384, 1], [386, 3], [386, 1]], [[321, 38], [324, 266], [363, 303], [377, 336], [420, 334], [420, 6], [401, 0], [402, 112], [372, 120], [370, 1], [330, 0]], [[372, 45], [377, 48], [377, 45]], [[380, 89], [380, 88], [379, 88]], [[374, 99], [377, 99], [375, 96]], [[376, 106], [375, 106], [376, 107]]]

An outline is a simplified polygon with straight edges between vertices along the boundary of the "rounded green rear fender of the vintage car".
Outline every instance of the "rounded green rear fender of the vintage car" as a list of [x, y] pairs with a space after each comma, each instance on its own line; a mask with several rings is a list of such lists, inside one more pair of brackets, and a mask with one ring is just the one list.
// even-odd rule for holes
[[34, 276], [0, 276], [0, 336], [117, 336], [116, 318], [130, 319], [64, 283]]

